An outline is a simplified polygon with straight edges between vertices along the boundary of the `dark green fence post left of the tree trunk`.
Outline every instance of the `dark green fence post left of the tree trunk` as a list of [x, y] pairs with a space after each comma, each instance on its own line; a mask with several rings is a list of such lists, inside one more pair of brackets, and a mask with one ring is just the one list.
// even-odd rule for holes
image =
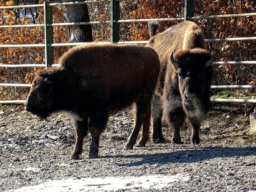
[[47, 24], [52, 24], [52, 6], [48, 6], [49, 3], [51, 2], [44, 2], [45, 68], [52, 66], [54, 62], [54, 48], [48, 46], [53, 43], [53, 27], [47, 26]]

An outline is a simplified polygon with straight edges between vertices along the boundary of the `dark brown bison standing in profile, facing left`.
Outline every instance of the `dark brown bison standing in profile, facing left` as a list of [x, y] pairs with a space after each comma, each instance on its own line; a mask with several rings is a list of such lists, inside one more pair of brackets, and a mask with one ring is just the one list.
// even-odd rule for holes
[[145, 127], [150, 124], [150, 101], [160, 70], [156, 52], [142, 46], [90, 43], [70, 49], [59, 64], [36, 73], [25, 109], [41, 119], [57, 111], [71, 114], [76, 144], [70, 159], [82, 153], [88, 130], [89, 158], [97, 158], [109, 113], [134, 103], [134, 128], [125, 144], [132, 148], [141, 125], [149, 129]]

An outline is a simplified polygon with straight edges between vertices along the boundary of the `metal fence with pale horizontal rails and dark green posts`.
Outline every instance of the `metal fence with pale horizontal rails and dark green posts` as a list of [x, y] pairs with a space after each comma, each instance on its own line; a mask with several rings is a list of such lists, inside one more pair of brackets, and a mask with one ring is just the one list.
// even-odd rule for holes
[[[53, 47], [57, 46], [76, 46], [84, 43], [53, 43], [53, 27], [54, 26], [68, 26], [68, 25], [91, 25], [91, 24], [106, 24], [110, 23], [110, 42], [116, 44], [147, 44], [148, 41], [119, 41], [120, 23], [129, 22], [147, 22], [147, 21], [186, 21], [186, 20], [201, 20], [201, 19], [216, 19], [216, 18], [228, 18], [228, 17], [245, 17], [256, 16], [255, 13], [243, 13], [243, 14], [227, 14], [227, 15], [211, 15], [211, 16], [198, 16], [194, 17], [194, 0], [185, 0], [184, 17], [181, 18], [162, 18], [162, 19], [136, 19], [136, 20], [120, 20], [119, 5], [122, 0], [89, 0], [80, 2], [68, 2], [68, 3], [51, 3], [44, 2], [44, 4], [35, 5], [20, 5], [20, 6], [5, 6], [0, 9], [13, 9], [13, 8], [31, 8], [42, 7], [44, 8], [44, 24], [31, 24], [31, 25], [2, 25], [0, 28], [21, 28], [21, 27], [44, 27], [44, 44], [19, 44], [19, 45], [0, 45], [1, 47], [44, 47], [45, 48], [45, 64], [20, 64], [20, 65], [6, 65], [0, 64], [0, 67], [5, 68], [18, 68], [18, 67], [57, 67], [58, 64], [53, 64]], [[88, 22], [73, 22], [73, 23], [53, 23], [52, 21], [52, 7], [58, 5], [75, 5], [75, 4], [90, 4], [90, 3], [103, 3], [110, 2], [110, 20], [107, 21], [88, 21]], [[224, 41], [252, 41], [256, 40], [256, 37], [239, 37], [239, 38], [221, 38], [221, 39], [205, 39], [205, 42], [224, 42]], [[213, 62], [213, 65], [253, 65], [256, 61], [217, 61]], [[15, 86], [15, 87], [30, 87], [31, 84], [3, 84], [0, 86]], [[211, 86], [212, 89], [255, 89], [256, 85], [219, 85]], [[212, 102], [238, 102], [238, 103], [256, 103], [256, 99], [211, 99]], [[0, 104], [7, 103], [25, 103], [25, 100], [1, 100]]]

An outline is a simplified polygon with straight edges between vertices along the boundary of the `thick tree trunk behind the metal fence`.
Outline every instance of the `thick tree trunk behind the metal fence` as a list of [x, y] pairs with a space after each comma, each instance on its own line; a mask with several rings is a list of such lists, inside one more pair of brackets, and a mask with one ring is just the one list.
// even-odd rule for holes
[[[64, 0], [64, 2], [72, 2], [73, 0]], [[81, 0], [78, 0], [81, 1]], [[68, 22], [90, 21], [89, 12], [86, 4], [66, 5]], [[91, 25], [73, 25], [68, 28], [68, 42], [92, 42], [92, 26]]]

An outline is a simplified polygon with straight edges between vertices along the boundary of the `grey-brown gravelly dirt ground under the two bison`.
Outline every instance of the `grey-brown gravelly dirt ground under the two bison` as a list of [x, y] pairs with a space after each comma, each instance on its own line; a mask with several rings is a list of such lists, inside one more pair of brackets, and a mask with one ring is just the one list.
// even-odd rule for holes
[[247, 133], [250, 120], [244, 116], [248, 109], [244, 105], [214, 103], [201, 126], [200, 145], [190, 145], [187, 130], [181, 133], [184, 144], [172, 144], [164, 127], [167, 143], [148, 142], [146, 147], [123, 151], [133, 125], [130, 109], [126, 109], [109, 117], [99, 158], [87, 159], [89, 135], [79, 160], [68, 160], [75, 144], [68, 116], [55, 114], [40, 121], [23, 108], [0, 105], [0, 191], [48, 180], [175, 174], [188, 179], [164, 188], [116, 191], [256, 190], [256, 140]]

